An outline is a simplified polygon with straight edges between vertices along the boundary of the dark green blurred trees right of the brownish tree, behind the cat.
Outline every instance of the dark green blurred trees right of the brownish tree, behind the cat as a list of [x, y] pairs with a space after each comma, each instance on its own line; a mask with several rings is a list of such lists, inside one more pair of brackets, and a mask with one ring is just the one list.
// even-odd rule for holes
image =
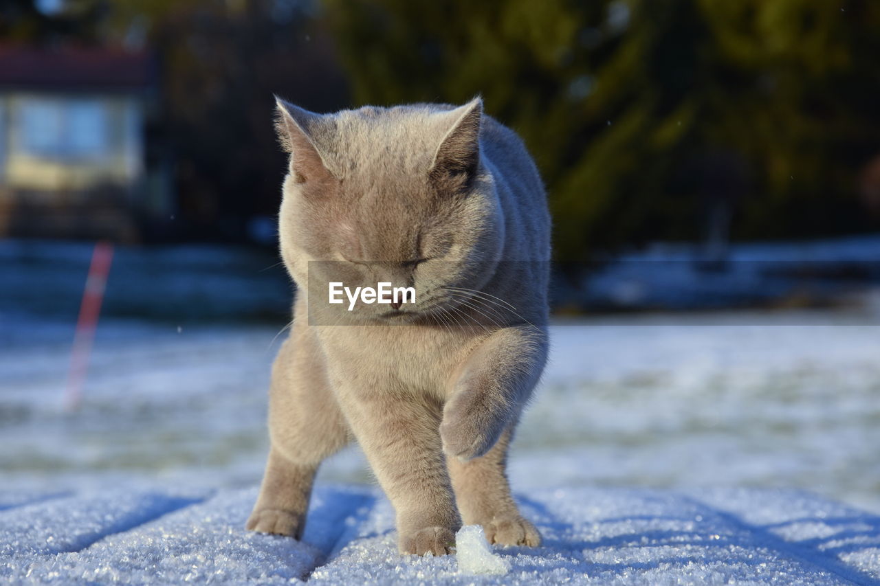
[[326, 0], [358, 104], [464, 102], [524, 137], [558, 257], [652, 238], [867, 226], [869, 0]]

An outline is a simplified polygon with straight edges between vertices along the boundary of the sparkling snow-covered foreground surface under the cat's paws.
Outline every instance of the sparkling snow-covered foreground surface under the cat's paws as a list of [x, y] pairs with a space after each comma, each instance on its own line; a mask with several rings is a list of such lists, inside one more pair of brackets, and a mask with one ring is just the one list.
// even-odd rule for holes
[[244, 530], [255, 488], [0, 494], [11, 583], [847, 584], [880, 579], [880, 518], [796, 491], [568, 487], [520, 494], [535, 549], [397, 553], [375, 487], [318, 487], [303, 542]]

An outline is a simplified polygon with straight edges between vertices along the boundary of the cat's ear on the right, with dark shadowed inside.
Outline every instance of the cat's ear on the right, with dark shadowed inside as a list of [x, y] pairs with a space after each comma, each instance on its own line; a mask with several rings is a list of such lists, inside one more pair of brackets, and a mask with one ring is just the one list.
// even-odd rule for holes
[[453, 188], [464, 188], [480, 167], [480, 121], [483, 100], [475, 98], [443, 114], [450, 126], [437, 147], [430, 178]]

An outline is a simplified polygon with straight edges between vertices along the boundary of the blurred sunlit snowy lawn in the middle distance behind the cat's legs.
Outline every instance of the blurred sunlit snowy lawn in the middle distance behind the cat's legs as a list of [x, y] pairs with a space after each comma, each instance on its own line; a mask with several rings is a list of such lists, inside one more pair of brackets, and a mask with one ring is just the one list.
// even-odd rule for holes
[[[513, 448], [513, 480], [800, 487], [880, 512], [880, 327], [857, 321], [749, 314], [554, 326], [544, 384]], [[274, 327], [179, 333], [103, 322], [73, 414], [62, 408], [72, 327], [31, 319], [0, 329], [5, 486], [259, 481]], [[322, 474], [370, 482], [356, 449]]]

